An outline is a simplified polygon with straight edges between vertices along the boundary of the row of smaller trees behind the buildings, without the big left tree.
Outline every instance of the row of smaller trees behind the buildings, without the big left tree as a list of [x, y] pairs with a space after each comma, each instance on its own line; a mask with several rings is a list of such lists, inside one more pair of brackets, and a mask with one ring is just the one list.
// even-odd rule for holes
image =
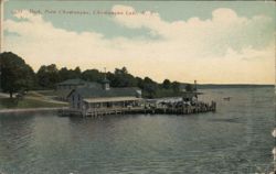
[[[171, 83], [169, 79], [164, 79], [162, 84], [158, 84], [149, 77], [135, 77], [128, 73], [126, 67], [115, 68], [113, 73], [107, 72], [106, 77], [110, 81], [112, 87], [139, 87], [144, 90], [145, 97], [149, 98], [157, 97], [158, 93], [163, 89], [171, 89], [174, 93], [180, 91], [180, 83], [178, 81]], [[45, 89], [53, 89], [56, 83], [72, 78], [102, 83], [105, 78], [105, 73], [94, 68], [82, 72], [79, 67], [74, 69], [62, 67], [59, 69], [54, 64], [49, 66], [43, 65], [36, 73], [39, 87]]]

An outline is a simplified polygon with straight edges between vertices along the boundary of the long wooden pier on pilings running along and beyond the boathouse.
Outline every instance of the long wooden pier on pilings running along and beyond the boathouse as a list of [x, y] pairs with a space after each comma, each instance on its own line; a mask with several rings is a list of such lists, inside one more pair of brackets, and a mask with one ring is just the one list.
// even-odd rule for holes
[[135, 115], [135, 113], [150, 113], [150, 115], [192, 115], [200, 112], [209, 112], [216, 110], [216, 102], [212, 101], [211, 105], [199, 102], [194, 106], [181, 107], [125, 107], [125, 108], [98, 108], [98, 109], [71, 109], [63, 108], [59, 110], [60, 116], [83, 116], [83, 117], [99, 117], [108, 115]]

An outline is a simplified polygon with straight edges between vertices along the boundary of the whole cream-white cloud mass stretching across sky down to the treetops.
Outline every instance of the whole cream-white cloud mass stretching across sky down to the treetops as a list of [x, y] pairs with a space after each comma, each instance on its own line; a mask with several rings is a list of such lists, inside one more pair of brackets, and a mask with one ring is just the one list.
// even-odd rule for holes
[[[135, 11], [125, 6], [112, 10]], [[84, 69], [127, 66], [134, 74], [158, 80], [203, 83], [273, 83], [275, 78], [273, 33], [263, 34], [272, 23], [267, 17], [247, 19], [231, 9], [216, 9], [209, 20], [167, 22], [149, 12], [114, 18], [128, 30], [149, 29], [160, 40], [128, 39], [124, 33], [106, 39], [102, 33], [54, 28], [28, 11], [15, 17], [23, 20], [6, 20], [4, 30], [19, 36], [6, 36], [4, 47], [36, 68], [51, 63]]]

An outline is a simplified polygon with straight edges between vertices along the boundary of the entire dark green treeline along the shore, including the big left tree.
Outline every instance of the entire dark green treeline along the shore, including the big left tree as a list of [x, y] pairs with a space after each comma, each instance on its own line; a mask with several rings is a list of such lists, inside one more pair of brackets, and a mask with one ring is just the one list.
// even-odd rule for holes
[[[55, 85], [66, 79], [81, 78], [87, 81], [100, 83], [105, 73], [92, 68], [84, 72], [79, 67], [68, 69], [57, 68], [55, 64], [42, 65], [36, 73], [25, 64], [23, 58], [6, 52], [0, 54], [1, 86], [2, 90], [12, 94], [19, 90], [30, 89], [55, 89]], [[179, 81], [164, 79], [158, 84], [149, 77], [140, 78], [129, 74], [126, 67], [116, 68], [115, 72], [107, 72], [106, 77], [110, 80], [112, 87], [139, 87], [144, 97], [167, 97], [177, 96], [181, 93]]]

